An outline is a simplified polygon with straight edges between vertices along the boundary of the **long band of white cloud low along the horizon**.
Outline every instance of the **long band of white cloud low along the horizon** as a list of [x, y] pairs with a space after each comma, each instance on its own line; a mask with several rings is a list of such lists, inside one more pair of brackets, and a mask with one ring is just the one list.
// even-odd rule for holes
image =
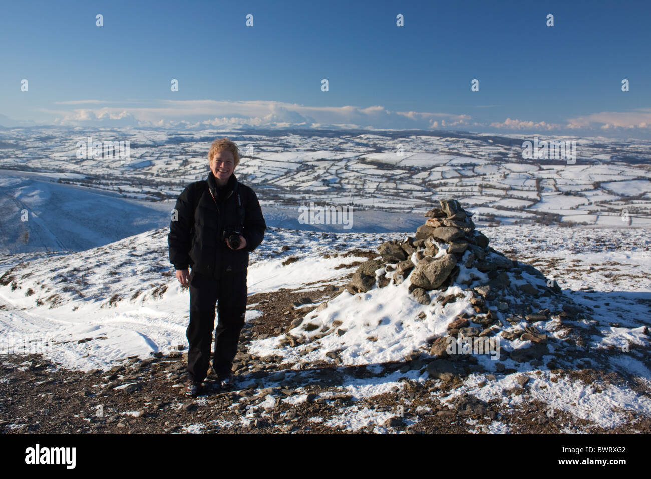
[[[70, 100], [55, 102], [71, 109], [42, 109], [55, 120], [70, 126], [158, 126], [160, 128], [367, 128], [391, 129], [469, 129], [478, 132], [540, 130], [568, 133], [589, 131], [630, 132], [648, 135], [651, 108], [631, 112], [602, 111], [568, 119], [566, 123], [547, 123], [506, 118], [492, 123], [473, 121], [471, 115], [425, 111], [390, 111], [374, 105], [361, 108], [344, 106], [305, 106], [268, 100]], [[97, 104], [96, 108], [92, 105]], [[86, 108], [74, 108], [83, 105]], [[88, 108], [88, 107], [90, 108]], [[7, 122], [5, 122], [7, 123]]]

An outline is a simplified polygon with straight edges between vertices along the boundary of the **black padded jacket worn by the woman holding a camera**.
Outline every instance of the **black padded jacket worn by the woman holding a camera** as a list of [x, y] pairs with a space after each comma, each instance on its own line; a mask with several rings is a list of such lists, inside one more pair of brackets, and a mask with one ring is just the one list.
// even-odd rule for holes
[[[242, 200], [239, 210], [238, 193]], [[170, 262], [175, 269], [191, 267], [214, 278], [223, 271], [247, 269], [249, 252], [262, 242], [267, 227], [255, 192], [239, 183], [234, 174], [219, 188], [210, 171], [206, 180], [187, 186], [176, 200], [175, 210], [177, 217], [172, 217], [167, 236]], [[232, 250], [222, 239], [223, 231], [238, 229], [242, 216], [247, 245]]]

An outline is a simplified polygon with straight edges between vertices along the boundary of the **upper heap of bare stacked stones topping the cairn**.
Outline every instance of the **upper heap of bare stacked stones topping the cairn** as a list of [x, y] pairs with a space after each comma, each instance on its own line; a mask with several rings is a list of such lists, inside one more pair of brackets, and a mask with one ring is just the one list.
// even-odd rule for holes
[[[381, 259], [365, 261], [346, 289], [355, 294], [368, 291], [376, 282], [380, 287], [389, 284], [391, 279], [386, 274], [376, 278], [376, 271], [382, 267], [385, 272], [393, 271], [395, 283], [409, 277], [409, 291], [422, 304], [430, 303], [427, 291], [444, 289], [454, 283], [460, 264], [477, 268], [487, 273], [488, 278], [508, 282], [504, 270], [511, 269], [513, 261], [488, 246], [488, 238], [475, 230], [472, 214], [454, 199], [443, 199], [439, 203], [440, 208], [424, 215], [428, 219], [417, 229], [415, 237], [380, 244]], [[469, 254], [465, 255], [466, 252]], [[468, 284], [471, 281], [472, 278], [466, 280]]]

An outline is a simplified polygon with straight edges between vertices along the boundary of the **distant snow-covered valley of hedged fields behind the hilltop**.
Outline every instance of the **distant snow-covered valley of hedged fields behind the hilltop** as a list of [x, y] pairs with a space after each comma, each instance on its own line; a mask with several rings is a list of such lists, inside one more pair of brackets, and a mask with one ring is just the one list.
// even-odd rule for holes
[[[113, 233], [118, 220], [125, 236], [163, 227], [183, 188], [205, 179], [206, 154], [218, 136], [239, 145], [236, 175], [255, 188], [264, 205], [348, 205], [359, 212], [354, 231], [380, 231], [364, 229], [372, 221], [365, 222], [361, 210], [422, 214], [448, 197], [485, 222], [651, 225], [651, 142], [646, 140], [564, 138], [578, 141], [577, 161], [568, 164], [523, 159], [521, 145], [529, 138], [514, 135], [4, 128], [0, 206], [7, 214], [0, 218], [0, 247], [21, 252], [43, 246], [57, 250], [61, 244], [98, 246], [104, 244], [100, 236], [106, 242], [118, 239]], [[77, 142], [88, 138], [129, 141], [130, 156], [109, 158], [102, 151], [96, 158], [77, 158]], [[90, 190], [83, 207], [70, 203], [66, 191], [72, 185], [82, 187], [77, 196]], [[146, 202], [109, 208], [98, 192]], [[70, 209], [74, 217], [51, 224], [57, 208]], [[25, 227], [15, 226], [23, 210], [33, 213], [29, 237]], [[93, 215], [96, 210], [102, 211], [102, 221]], [[279, 222], [287, 224], [273, 225], [324, 229], [296, 220], [298, 214], [280, 214]], [[396, 226], [380, 228], [408, 231]]]

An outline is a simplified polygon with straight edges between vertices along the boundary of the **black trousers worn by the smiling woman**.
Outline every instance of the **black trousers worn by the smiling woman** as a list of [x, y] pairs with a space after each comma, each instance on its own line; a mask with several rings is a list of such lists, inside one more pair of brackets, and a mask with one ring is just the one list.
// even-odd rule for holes
[[195, 381], [208, 375], [210, 345], [217, 329], [212, 365], [219, 376], [230, 373], [238, 352], [240, 331], [244, 326], [247, 303], [247, 270], [221, 272], [219, 280], [192, 270], [190, 272], [190, 324], [186, 336], [187, 372]]

